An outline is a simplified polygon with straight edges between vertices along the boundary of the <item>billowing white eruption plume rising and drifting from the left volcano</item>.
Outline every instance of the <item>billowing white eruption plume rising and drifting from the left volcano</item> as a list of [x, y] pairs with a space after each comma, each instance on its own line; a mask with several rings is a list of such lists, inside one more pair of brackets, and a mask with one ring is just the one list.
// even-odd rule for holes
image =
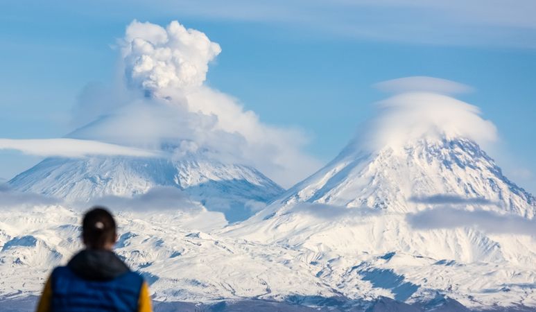
[[[209, 62], [221, 51], [205, 34], [177, 21], [166, 28], [132, 21], [120, 42], [131, 90], [121, 94], [121, 101], [127, 104], [110, 105], [107, 111], [98, 105], [93, 115], [100, 117], [69, 137], [162, 148], [175, 158], [196, 155], [244, 164], [283, 187], [320, 167], [302, 152], [309, 141], [302, 131], [263, 123], [236, 98], [203, 85]], [[98, 101], [118, 100], [114, 94], [103, 98], [100, 90]], [[87, 100], [94, 96], [84, 98], [78, 112], [92, 112]]]

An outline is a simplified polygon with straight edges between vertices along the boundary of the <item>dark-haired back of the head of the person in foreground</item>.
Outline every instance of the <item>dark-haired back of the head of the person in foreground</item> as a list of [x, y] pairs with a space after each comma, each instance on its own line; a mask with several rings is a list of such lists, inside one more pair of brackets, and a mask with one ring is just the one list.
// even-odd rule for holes
[[105, 207], [93, 207], [82, 221], [82, 238], [92, 249], [103, 249], [107, 243], [115, 243], [116, 225], [110, 211]]

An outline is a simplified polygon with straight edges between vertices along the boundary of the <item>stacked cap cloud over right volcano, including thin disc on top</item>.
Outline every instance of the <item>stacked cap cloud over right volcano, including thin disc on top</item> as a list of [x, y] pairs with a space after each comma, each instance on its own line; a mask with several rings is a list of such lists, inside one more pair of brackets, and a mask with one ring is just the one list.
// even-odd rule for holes
[[417, 77], [390, 80], [383, 83], [383, 87], [402, 93], [377, 103], [377, 118], [358, 135], [354, 144], [377, 150], [385, 146], [404, 146], [417, 139], [462, 137], [484, 145], [497, 139], [495, 125], [482, 118], [478, 107], [438, 93], [467, 90], [463, 85]]

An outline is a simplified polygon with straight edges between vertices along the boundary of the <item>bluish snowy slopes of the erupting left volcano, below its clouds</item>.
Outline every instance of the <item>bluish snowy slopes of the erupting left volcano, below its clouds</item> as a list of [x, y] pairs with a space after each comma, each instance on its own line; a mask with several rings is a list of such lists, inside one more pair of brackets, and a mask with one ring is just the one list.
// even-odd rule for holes
[[85, 202], [103, 196], [132, 197], [153, 187], [177, 187], [230, 222], [243, 220], [256, 202], [282, 193], [281, 187], [248, 166], [189, 157], [177, 161], [138, 157], [49, 158], [14, 177], [17, 191]]

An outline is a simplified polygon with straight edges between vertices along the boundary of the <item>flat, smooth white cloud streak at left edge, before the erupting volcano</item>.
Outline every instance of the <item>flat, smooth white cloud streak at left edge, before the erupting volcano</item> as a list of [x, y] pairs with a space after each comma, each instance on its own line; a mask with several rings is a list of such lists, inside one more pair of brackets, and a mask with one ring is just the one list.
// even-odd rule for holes
[[89, 155], [116, 155], [157, 157], [159, 152], [80, 139], [0, 139], [0, 150], [19, 150], [38, 156], [85, 157]]

